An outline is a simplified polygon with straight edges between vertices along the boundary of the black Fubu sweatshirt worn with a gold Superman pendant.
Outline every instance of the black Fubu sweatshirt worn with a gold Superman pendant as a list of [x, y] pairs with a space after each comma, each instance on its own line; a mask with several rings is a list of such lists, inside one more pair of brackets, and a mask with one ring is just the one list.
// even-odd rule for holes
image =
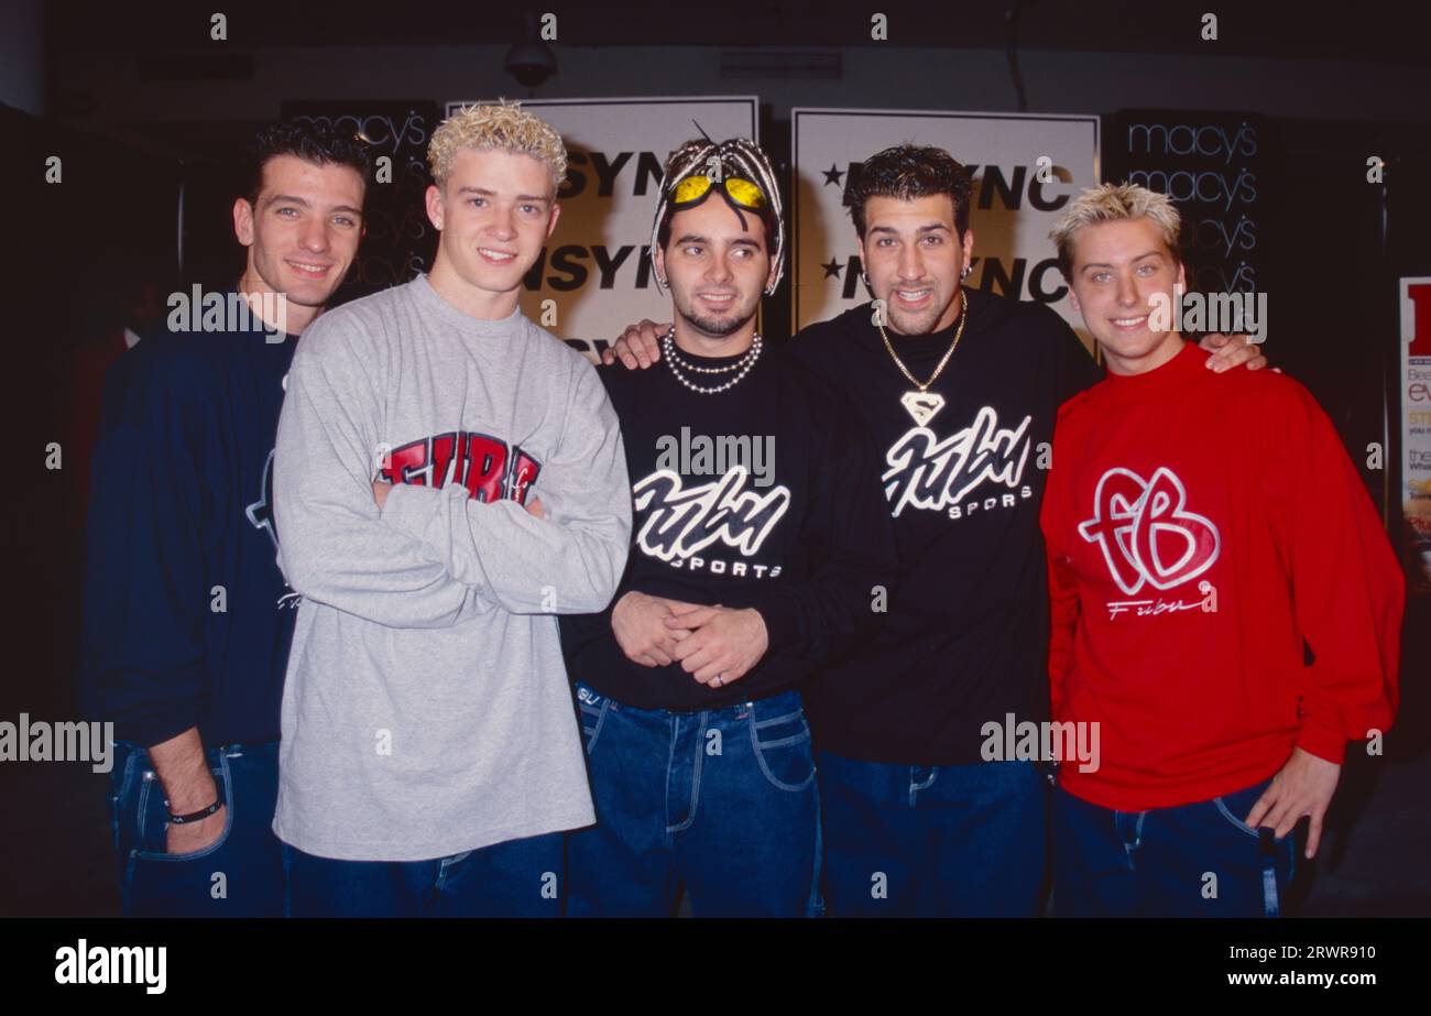
[[[883, 487], [899, 544], [883, 628], [806, 691], [816, 744], [850, 758], [977, 763], [983, 724], [1047, 718], [1040, 444], [1059, 404], [1099, 372], [1049, 308], [964, 292], [969, 325], [929, 389], [946, 402], [923, 428], [900, 404], [914, 385], [871, 305], [806, 328], [788, 349], [870, 435], [881, 462], [869, 484]], [[953, 333], [889, 338], [923, 382]]]

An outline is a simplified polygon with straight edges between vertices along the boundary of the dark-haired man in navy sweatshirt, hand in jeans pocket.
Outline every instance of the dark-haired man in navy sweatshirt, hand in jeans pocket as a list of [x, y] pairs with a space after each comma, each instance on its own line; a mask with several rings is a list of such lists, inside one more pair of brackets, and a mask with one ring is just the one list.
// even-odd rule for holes
[[273, 438], [298, 335], [348, 273], [371, 157], [289, 122], [233, 202], [248, 265], [173, 293], [104, 382], [80, 684], [114, 723], [110, 806], [129, 916], [282, 916], [270, 824], [296, 594], [278, 568]]

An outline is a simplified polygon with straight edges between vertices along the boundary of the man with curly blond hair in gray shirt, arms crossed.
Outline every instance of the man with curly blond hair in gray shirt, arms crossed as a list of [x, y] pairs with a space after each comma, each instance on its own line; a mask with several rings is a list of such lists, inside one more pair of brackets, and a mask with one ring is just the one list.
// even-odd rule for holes
[[610, 602], [631, 492], [595, 371], [517, 308], [565, 149], [478, 106], [428, 160], [431, 275], [313, 325], [279, 421], [295, 916], [555, 916], [594, 821], [557, 615]]

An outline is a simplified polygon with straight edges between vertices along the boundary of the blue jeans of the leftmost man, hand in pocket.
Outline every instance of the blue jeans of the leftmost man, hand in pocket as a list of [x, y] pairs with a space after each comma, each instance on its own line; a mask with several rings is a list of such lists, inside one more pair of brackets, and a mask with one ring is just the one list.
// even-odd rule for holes
[[219, 839], [170, 854], [165, 790], [137, 744], [114, 744], [110, 819], [126, 917], [282, 917], [283, 857], [273, 836], [278, 741], [209, 748], [226, 807]]

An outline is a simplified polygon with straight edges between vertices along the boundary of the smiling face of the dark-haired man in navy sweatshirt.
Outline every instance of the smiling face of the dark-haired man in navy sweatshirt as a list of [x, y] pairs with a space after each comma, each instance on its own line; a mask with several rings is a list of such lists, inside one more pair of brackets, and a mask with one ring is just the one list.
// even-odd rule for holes
[[283, 293], [289, 331], [302, 331], [342, 283], [362, 238], [362, 175], [293, 155], [263, 163], [258, 202], [233, 202], [233, 232], [249, 249], [239, 288]]

